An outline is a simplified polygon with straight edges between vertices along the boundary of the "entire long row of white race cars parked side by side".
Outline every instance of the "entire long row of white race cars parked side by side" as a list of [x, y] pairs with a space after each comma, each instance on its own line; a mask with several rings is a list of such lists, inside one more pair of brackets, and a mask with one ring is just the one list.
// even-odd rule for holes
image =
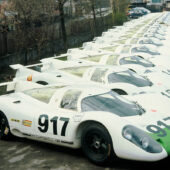
[[66, 54], [12, 65], [13, 82], [0, 85], [0, 138], [82, 148], [97, 164], [167, 157], [169, 24], [168, 12], [151, 13]]

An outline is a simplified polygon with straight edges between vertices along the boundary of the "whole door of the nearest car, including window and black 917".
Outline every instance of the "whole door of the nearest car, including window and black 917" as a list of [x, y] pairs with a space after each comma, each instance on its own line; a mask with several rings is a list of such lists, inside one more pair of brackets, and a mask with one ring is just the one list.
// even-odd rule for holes
[[49, 103], [49, 111], [37, 114], [35, 117], [35, 131], [49, 142], [72, 144], [78, 121], [74, 121], [77, 115], [77, 101], [79, 91], [67, 90], [61, 99], [53, 97]]

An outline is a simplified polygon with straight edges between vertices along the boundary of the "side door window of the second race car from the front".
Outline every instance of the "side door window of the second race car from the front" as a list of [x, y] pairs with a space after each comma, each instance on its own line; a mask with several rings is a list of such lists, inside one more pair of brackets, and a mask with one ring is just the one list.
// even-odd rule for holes
[[95, 71], [91, 77], [91, 80], [95, 81], [95, 82], [101, 82], [101, 83], [105, 82], [104, 78], [105, 78], [107, 71], [108, 71], [108, 69], [101, 69], [101, 68], [95, 69]]

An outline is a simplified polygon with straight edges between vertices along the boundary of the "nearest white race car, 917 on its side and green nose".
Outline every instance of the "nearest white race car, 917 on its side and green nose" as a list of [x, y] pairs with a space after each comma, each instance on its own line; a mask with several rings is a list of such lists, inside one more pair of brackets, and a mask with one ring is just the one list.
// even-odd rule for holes
[[82, 148], [96, 164], [115, 155], [161, 160], [170, 152], [169, 129], [169, 114], [147, 112], [96, 86], [46, 86], [0, 96], [0, 139], [14, 135]]

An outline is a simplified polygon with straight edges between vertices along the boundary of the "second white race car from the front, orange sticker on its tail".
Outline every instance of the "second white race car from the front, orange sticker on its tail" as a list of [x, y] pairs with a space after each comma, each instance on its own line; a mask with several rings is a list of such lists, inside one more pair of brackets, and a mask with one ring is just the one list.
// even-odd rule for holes
[[80, 64], [83, 63], [63, 61], [56, 61], [55, 63], [55, 61], [52, 61], [52, 64], [45, 62], [27, 66], [28, 68], [21, 65], [13, 66], [18, 67], [14, 80], [27, 80], [41, 85], [56, 84], [58, 82], [98, 85], [109, 88], [120, 95], [126, 95], [126, 98], [140, 103], [142, 107], [149, 111], [154, 110], [154, 107], [158, 113], [169, 113], [169, 89], [149, 86], [149, 81], [140, 76], [135, 76], [134, 72], [127, 69], [118, 68], [117, 71], [114, 71], [109, 66], [80, 66]]

